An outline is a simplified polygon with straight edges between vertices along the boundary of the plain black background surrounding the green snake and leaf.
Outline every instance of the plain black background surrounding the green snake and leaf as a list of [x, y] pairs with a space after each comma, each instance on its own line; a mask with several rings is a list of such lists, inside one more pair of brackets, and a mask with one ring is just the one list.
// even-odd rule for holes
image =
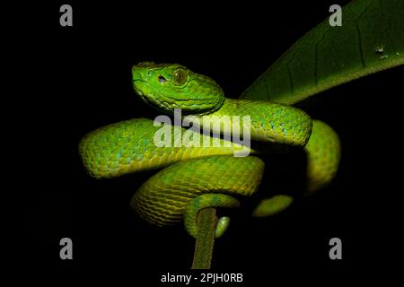
[[[23, 133], [30, 140], [23, 145], [35, 152], [31, 172], [18, 178], [18, 187], [29, 191], [24, 202], [30, 205], [23, 220], [26, 229], [22, 227], [28, 230], [29, 252], [20, 260], [46, 270], [44, 274], [52, 268], [67, 274], [106, 270], [97, 275], [102, 278], [128, 268], [134, 280], [142, 277], [150, 285], [158, 274], [187, 270], [194, 240], [182, 225], [156, 229], [141, 222], [128, 205], [151, 173], [92, 179], [77, 153], [80, 138], [119, 120], [154, 117], [132, 89], [130, 69], [139, 61], [187, 65], [237, 98], [295, 40], [329, 15], [330, 4], [346, 3], [219, 7], [73, 1], [70, 28], [59, 26], [58, 10], [65, 3], [36, 6], [40, 17], [31, 15], [22, 52], [29, 59], [22, 69], [22, 85], [30, 85], [21, 110], [25, 117], [20, 117], [28, 124]], [[302, 271], [307, 282], [315, 282], [319, 274], [329, 274], [331, 281], [348, 274], [362, 278], [391, 263], [400, 246], [394, 206], [400, 173], [392, 164], [400, 161], [397, 103], [403, 72], [401, 66], [373, 74], [300, 105], [340, 135], [338, 178], [316, 196], [300, 199], [271, 218], [251, 218], [247, 208], [230, 212], [231, 228], [215, 242], [216, 271], [242, 272], [250, 278], [246, 282], [254, 278], [261, 283], [280, 274], [290, 274], [284, 277], [289, 280]], [[260, 193], [275, 192], [270, 177], [283, 191], [297, 185], [277, 174], [279, 161], [282, 165], [279, 158], [275, 163], [268, 159]], [[72, 261], [59, 258], [63, 237], [73, 239]], [[333, 237], [342, 240], [343, 260], [329, 259]]]

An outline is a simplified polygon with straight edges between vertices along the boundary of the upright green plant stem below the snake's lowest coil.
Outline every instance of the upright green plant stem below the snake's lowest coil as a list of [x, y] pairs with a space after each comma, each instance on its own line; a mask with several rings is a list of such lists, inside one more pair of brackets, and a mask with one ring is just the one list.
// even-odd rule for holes
[[199, 212], [198, 235], [191, 269], [210, 269], [215, 244], [216, 223], [215, 208], [205, 208]]

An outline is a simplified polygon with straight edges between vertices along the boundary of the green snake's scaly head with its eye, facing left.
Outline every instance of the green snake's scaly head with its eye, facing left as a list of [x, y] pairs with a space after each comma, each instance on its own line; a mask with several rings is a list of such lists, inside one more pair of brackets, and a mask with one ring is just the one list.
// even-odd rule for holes
[[219, 109], [224, 92], [211, 78], [178, 64], [141, 62], [132, 67], [136, 93], [155, 109], [172, 114], [207, 114]]

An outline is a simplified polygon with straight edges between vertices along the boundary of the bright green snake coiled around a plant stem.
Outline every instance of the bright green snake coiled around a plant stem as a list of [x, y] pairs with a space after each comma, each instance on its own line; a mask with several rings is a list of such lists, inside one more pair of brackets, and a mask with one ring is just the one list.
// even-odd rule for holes
[[[268, 101], [227, 99], [214, 80], [183, 65], [142, 62], [133, 66], [132, 76], [136, 93], [147, 104], [168, 115], [180, 109], [183, 118], [193, 120], [199, 127], [168, 126], [165, 136], [171, 144], [162, 146], [154, 143], [162, 125], [148, 118], [103, 126], [83, 136], [79, 151], [93, 178], [116, 178], [160, 169], [139, 187], [130, 203], [147, 222], [164, 226], [183, 220], [189, 234], [196, 237], [200, 210], [239, 206], [238, 198], [258, 190], [264, 172], [264, 162], [258, 155], [266, 149], [242, 146], [225, 138], [223, 126], [206, 127], [209, 120], [213, 124], [230, 120], [231, 126], [246, 128], [253, 142], [272, 146], [273, 150], [277, 146], [304, 149], [309, 192], [329, 184], [338, 171], [338, 135], [301, 109]], [[250, 122], [235, 123], [238, 117], [249, 117]], [[203, 120], [197, 123], [198, 118]], [[205, 128], [223, 136], [214, 138], [199, 132]], [[180, 142], [185, 135], [193, 144]], [[195, 144], [213, 141], [216, 144]], [[234, 156], [241, 149], [254, 155]], [[291, 202], [290, 196], [273, 196], [259, 203], [253, 215], [278, 213]], [[228, 226], [229, 218], [221, 217], [216, 224], [216, 237], [224, 234]]]

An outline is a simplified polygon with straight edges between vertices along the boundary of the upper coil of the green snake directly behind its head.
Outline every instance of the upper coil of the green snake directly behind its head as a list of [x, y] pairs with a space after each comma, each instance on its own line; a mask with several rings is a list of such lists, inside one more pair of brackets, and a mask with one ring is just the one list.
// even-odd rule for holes
[[312, 133], [312, 119], [303, 110], [258, 100], [225, 99], [220, 109], [184, 117], [184, 122], [215, 134], [288, 146], [303, 147]]

